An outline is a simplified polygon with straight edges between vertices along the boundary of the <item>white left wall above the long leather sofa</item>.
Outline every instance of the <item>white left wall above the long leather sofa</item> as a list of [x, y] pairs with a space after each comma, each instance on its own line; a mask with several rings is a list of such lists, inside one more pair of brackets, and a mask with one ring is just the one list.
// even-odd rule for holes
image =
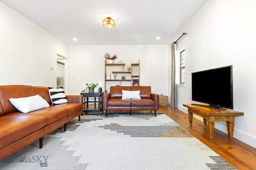
[[56, 87], [57, 53], [69, 57], [69, 46], [2, 2], [0, 21], [0, 85]]

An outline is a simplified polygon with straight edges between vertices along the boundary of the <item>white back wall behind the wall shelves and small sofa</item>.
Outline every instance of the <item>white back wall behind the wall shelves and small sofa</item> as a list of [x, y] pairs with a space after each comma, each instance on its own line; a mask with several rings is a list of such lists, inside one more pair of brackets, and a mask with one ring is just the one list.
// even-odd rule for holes
[[140, 59], [140, 86], [151, 86], [152, 92], [168, 95], [168, 45], [70, 46], [70, 94], [80, 94], [86, 83], [104, 82], [105, 53], [116, 54], [125, 68]]

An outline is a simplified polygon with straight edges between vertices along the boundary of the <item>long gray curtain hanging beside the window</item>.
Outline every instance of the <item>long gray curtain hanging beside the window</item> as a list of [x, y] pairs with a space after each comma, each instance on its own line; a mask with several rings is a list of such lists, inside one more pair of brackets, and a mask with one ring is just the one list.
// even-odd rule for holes
[[171, 44], [171, 55], [172, 55], [172, 90], [171, 90], [171, 107], [177, 109], [177, 87], [176, 87], [176, 68], [175, 68], [175, 49], [174, 42]]

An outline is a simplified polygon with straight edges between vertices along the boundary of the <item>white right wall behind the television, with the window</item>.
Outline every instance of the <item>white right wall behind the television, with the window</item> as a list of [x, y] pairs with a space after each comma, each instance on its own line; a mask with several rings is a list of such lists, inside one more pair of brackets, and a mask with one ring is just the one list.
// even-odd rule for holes
[[[192, 72], [233, 65], [234, 110], [244, 112], [235, 117], [234, 138], [256, 148], [255, 9], [255, 0], [208, 0], [173, 41], [188, 33], [178, 41], [178, 49], [186, 50], [186, 84], [178, 87], [178, 109], [187, 112], [182, 105], [192, 103]], [[226, 122], [215, 127], [227, 133]]]

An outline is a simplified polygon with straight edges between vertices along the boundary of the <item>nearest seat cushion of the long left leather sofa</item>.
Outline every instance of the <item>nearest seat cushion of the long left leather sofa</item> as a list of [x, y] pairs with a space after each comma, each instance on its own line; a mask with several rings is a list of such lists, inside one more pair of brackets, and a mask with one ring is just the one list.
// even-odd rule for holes
[[0, 116], [0, 149], [42, 129], [45, 125], [46, 118], [42, 116]]

